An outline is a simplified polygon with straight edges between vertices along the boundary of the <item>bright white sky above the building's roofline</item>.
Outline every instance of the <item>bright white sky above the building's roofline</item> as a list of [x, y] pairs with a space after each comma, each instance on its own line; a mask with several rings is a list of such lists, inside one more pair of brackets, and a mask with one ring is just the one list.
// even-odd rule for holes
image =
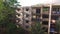
[[56, 3], [60, 2], [60, 0], [18, 0], [18, 2], [20, 2], [22, 6], [31, 6], [42, 3]]

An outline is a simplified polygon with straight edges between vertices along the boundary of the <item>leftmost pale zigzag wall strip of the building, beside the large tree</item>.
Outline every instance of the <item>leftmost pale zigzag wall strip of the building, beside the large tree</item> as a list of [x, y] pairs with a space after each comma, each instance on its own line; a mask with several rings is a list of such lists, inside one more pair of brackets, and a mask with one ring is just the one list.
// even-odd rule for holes
[[16, 10], [16, 23], [23, 25], [23, 8], [17, 8]]

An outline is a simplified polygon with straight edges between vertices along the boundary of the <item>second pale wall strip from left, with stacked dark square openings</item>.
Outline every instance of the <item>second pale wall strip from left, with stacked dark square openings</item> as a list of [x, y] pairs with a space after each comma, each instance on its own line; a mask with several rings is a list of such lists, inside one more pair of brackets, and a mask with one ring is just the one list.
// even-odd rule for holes
[[31, 14], [31, 7], [24, 7], [23, 8], [24, 12], [23, 12], [23, 21], [24, 21], [24, 28], [25, 29], [29, 29], [31, 28], [31, 17], [32, 17], [32, 14]]

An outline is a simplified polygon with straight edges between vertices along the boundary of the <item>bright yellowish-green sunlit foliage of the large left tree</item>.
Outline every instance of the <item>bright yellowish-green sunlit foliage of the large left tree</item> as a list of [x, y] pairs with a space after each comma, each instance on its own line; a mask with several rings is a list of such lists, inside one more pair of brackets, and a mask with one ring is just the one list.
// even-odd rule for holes
[[[9, 2], [6, 2], [6, 0], [4, 2], [0, 0], [0, 22], [3, 22], [5, 21], [5, 19], [8, 19], [8, 14], [12, 15], [15, 13], [15, 9], [10, 7], [11, 4], [8, 3]], [[12, 2], [10, 1], [10, 3]], [[12, 3], [12, 5], [14, 4]]]

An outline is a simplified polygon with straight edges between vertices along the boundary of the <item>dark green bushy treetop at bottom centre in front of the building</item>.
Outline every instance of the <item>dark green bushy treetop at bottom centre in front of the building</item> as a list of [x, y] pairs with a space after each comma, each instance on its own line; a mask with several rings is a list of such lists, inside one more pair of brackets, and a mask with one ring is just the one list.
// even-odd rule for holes
[[40, 22], [37, 22], [34, 26], [32, 26], [32, 34], [44, 34], [44, 31], [42, 29], [42, 24]]

